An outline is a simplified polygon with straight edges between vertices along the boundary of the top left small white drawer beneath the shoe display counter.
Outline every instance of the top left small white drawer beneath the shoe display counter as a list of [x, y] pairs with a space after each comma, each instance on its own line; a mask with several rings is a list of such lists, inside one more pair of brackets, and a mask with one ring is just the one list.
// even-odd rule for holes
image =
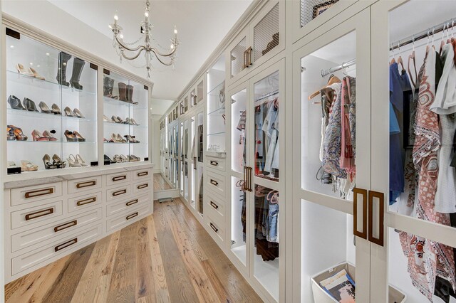
[[50, 183], [11, 189], [11, 206], [35, 201], [46, 201], [62, 196], [62, 183]]

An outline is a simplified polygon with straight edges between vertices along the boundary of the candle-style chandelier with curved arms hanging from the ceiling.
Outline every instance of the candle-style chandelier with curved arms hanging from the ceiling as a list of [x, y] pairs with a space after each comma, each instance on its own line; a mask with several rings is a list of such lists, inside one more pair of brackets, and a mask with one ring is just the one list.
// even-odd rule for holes
[[[152, 23], [149, 21], [149, 12], [150, 12], [150, 3], [149, 0], [145, 1], [145, 11], [144, 17], [145, 20], [140, 23], [141, 25], [141, 33], [142, 36], [138, 38], [137, 41], [133, 43], [126, 43], [123, 41], [123, 34], [121, 33], [122, 27], [118, 25], [119, 17], [117, 15], [117, 11], [115, 11], [114, 15], [114, 23], [110, 24], [109, 28], [113, 31], [114, 38], [113, 38], [113, 46], [116, 50], [118, 50], [118, 55], [120, 57], [120, 62], [122, 62], [122, 58], [126, 60], [135, 60], [140, 56], [142, 51], [145, 51], [145, 67], [147, 68], [147, 78], [150, 78], [150, 66], [152, 65], [152, 59], [155, 57], [157, 60], [162, 63], [162, 65], [173, 65], [176, 60], [176, 50], [177, 46], [179, 45], [180, 41], [177, 39], [177, 29], [176, 26], [174, 27], [174, 37], [170, 39], [171, 46], [170, 50], [165, 50], [161, 52], [154, 46], [152, 46], [152, 41], [155, 39], [152, 38]], [[143, 40], [144, 44], [138, 45], [140, 41]], [[130, 52], [129, 55], [125, 53], [125, 51]], [[164, 58], [169, 57], [170, 60], [165, 62]]]

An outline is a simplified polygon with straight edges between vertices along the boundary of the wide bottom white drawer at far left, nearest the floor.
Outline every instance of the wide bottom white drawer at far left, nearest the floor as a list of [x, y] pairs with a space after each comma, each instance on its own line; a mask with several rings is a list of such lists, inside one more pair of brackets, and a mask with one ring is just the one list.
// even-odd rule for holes
[[[103, 232], [103, 225], [98, 224], [91, 228], [78, 231], [72, 235], [68, 235], [63, 240], [53, 241], [50, 245], [43, 248], [38, 248], [24, 255], [19, 255], [11, 259], [11, 275], [16, 275], [19, 272], [27, 270], [30, 267], [39, 265], [41, 262], [46, 262], [49, 259], [58, 255], [65, 254], [73, 248], [83, 247], [83, 243], [87, 243], [91, 239], [97, 238]], [[51, 259], [53, 261], [54, 259]]]

